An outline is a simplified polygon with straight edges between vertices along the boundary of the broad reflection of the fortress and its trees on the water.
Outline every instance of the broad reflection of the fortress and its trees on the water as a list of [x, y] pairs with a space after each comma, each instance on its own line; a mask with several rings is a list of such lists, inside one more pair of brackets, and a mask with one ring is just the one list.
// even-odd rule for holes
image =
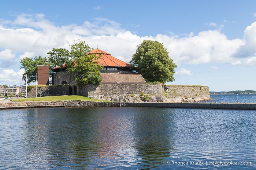
[[171, 113], [120, 109], [106, 108], [104, 113], [102, 108], [28, 110], [26, 157], [43, 157], [54, 167], [164, 166], [173, 149]]

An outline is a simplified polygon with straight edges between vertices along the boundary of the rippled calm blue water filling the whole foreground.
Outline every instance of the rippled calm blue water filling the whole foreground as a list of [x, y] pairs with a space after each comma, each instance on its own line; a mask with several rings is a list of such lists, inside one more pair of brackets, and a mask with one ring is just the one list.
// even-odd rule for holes
[[[0, 120], [0, 169], [256, 169], [256, 111], [38, 108]], [[221, 165], [237, 162], [252, 165]]]

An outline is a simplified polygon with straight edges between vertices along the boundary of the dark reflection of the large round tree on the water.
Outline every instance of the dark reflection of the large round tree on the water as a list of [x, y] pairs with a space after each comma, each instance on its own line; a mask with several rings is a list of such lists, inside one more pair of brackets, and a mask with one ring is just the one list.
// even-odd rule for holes
[[141, 167], [165, 166], [174, 149], [173, 127], [170, 109], [151, 108], [148, 112], [144, 112], [142, 108], [137, 109], [133, 121], [133, 134], [136, 139], [134, 148], [141, 159], [138, 162]]

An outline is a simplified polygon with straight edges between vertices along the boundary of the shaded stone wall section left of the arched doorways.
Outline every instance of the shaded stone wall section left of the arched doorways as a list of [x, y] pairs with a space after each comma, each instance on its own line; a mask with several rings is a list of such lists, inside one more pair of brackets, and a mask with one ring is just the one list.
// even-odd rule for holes
[[36, 97], [43, 97], [43, 96], [61, 96], [61, 95], [68, 95], [68, 85], [65, 86], [37, 86], [28, 90], [27, 98]]

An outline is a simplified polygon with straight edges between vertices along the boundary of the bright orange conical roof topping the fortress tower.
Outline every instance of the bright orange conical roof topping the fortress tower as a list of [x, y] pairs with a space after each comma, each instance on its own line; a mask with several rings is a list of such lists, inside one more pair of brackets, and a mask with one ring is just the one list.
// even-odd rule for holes
[[101, 64], [104, 67], [130, 67], [130, 64], [127, 62], [124, 62], [120, 59], [117, 59], [113, 56], [111, 56], [111, 54], [102, 51], [100, 49], [95, 49], [90, 51], [87, 54], [96, 54], [97, 56], [99, 56], [99, 54], [101, 54], [100, 59], [98, 59], [98, 61], [100, 62], [99, 64]]

